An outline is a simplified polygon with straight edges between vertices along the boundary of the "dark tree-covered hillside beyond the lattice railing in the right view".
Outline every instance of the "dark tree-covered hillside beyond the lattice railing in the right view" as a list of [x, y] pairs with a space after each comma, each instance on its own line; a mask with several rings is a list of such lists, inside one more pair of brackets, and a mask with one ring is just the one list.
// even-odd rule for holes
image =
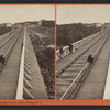
[[86, 24], [82, 23], [57, 25], [56, 28], [57, 46], [68, 45], [70, 43], [77, 42], [100, 30], [101, 28], [97, 28], [96, 25], [87, 26]]

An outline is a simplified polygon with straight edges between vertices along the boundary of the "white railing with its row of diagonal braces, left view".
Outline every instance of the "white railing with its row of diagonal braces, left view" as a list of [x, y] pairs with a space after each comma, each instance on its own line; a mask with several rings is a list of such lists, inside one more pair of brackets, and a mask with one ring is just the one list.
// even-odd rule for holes
[[26, 29], [24, 30], [24, 40], [22, 45], [22, 54], [21, 54], [21, 64], [20, 64], [20, 74], [16, 89], [16, 98], [18, 100], [22, 99], [34, 99], [30, 89], [33, 88], [31, 85], [31, 65], [30, 65], [30, 53], [28, 48], [28, 37], [26, 37]]

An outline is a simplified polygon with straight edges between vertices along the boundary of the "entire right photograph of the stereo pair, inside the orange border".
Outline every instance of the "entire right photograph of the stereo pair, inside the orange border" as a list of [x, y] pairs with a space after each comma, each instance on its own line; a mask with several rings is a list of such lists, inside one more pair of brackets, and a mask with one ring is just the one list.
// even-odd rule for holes
[[110, 99], [110, 6], [56, 6], [56, 99]]

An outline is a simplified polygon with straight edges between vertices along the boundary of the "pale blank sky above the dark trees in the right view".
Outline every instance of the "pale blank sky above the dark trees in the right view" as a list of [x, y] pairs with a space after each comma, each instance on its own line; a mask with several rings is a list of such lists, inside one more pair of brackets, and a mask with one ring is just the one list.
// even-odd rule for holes
[[110, 6], [57, 6], [57, 24], [110, 22]]

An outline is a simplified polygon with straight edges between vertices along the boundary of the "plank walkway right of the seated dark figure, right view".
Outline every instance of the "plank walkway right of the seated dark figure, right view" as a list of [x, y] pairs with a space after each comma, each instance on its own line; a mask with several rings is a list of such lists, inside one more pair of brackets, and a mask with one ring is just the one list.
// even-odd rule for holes
[[102, 99], [110, 54], [110, 37], [100, 52], [95, 65], [84, 80], [75, 99]]

